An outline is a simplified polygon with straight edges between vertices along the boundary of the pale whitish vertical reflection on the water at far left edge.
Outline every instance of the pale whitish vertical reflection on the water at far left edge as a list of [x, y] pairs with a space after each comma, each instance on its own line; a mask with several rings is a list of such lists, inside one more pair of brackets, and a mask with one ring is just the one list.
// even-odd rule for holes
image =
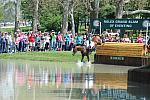
[[14, 69], [13, 64], [0, 63], [0, 100], [12, 100], [14, 98]]

